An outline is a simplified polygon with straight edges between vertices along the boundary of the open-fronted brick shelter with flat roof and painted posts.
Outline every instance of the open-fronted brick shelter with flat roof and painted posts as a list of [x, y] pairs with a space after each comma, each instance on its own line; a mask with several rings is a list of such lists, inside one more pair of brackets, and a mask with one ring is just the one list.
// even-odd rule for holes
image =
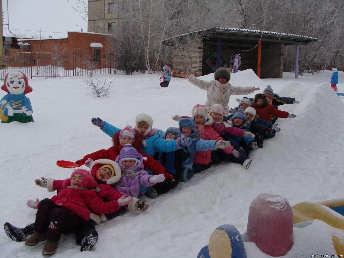
[[[192, 39], [192, 34], [196, 33], [201, 36]], [[176, 49], [178, 39], [182, 43]], [[183, 43], [183, 39], [191, 40], [191, 44]], [[213, 73], [220, 66], [230, 67], [234, 55], [240, 54], [240, 70], [250, 68], [260, 78], [282, 78], [284, 46], [297, 45], [298, 60], [298, 45], [315, 41], [317, 39], [313, 37], [294, 34], [211, 28], [166, 39], [163, 43], [174, 48], [172, 66], [175, 77], [182, 77], [182, 72], [190, 64], [195, 76]]]

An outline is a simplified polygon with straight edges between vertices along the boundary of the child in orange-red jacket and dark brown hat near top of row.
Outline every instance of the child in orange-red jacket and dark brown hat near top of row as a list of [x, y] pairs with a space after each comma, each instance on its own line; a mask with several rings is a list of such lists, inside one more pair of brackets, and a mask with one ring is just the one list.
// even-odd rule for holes
[[252, 108], [256, 109], [256, 114], [272, 123], [272, 116], [279, 117], [279, 118], [294, 118], [296, 115], [289, 114], [286, 111], [278, 110], [277, 108], [273, 107], [271, 104], [268, 104], [268, 100], [264, 94], [258, 93], [256, 94]]

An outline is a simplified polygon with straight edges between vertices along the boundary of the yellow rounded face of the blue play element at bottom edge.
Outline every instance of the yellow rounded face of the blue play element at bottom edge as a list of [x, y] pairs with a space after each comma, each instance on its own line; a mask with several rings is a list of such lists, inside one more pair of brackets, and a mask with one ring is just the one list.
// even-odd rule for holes
[[209, 255], [216, 258], [232, 257], [232, 244], [224, 230], [215, 229], [209, 237]]

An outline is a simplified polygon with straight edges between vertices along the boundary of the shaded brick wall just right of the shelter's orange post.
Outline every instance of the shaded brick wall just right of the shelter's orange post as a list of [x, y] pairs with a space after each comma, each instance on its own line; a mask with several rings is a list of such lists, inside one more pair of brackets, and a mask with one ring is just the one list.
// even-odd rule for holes
[[284, 44], [273, 44], [261, 48], [261, 78], [282, 78]]

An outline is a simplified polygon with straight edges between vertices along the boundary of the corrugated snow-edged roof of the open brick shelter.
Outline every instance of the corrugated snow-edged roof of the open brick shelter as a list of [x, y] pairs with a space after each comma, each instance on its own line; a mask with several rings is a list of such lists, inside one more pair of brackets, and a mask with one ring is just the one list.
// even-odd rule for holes
[[316, 39], [315, 37], [302, 36], [297, 34], [214, 27], [177, 35], [169, 39], [165, 39], [162, 42], [169, 45], [169, 42], [171, 42], [172, 39], [194, 33], [204, 33], [203, 38], [206, 38], [209, 41], [215, 41], [217, 40], [217, 37], [221, 37], [222, 41], [228, 40], [230, 42], [239, 43], [240, 41], [245, 40], [246, 43], [252, 44], [256, 44], [260, 39], [262, 43], [284, 43], [284, 45], [307, 45], [308, 43], [318, 41], [318, 39]]

